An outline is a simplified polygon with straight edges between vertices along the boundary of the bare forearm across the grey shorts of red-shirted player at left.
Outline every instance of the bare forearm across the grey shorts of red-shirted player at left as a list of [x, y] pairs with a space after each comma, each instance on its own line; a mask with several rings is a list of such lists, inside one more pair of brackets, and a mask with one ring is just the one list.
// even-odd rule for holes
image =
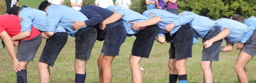
[[31, 34], [30, 31], [23, 31], [23, 32], [20, 32], [19, 34], [13, 36], [12, 40], [23, 40], [23, 39], [29, 37], [30, 34]]

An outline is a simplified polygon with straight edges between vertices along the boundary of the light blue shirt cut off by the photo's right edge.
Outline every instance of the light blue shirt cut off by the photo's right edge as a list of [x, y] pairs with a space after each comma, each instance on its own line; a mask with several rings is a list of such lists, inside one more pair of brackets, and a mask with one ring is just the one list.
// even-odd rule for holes
[[256, 17], [250, 17], [244, 20], [244, 24], [256, 30]]

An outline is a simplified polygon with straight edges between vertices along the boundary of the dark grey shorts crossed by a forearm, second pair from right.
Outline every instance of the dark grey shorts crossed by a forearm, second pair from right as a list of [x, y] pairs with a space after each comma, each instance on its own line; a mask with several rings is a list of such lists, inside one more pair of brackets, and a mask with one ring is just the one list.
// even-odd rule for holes
[[[212, 39], [215, 37], [217, 34], [221, 32], [221, 29], [219, 26], [213, 27], [208, 33], [204, 36], [202, 43], [204, 43], [207, 40]], [[219, 55], [221, 51], [221, 44], [222, 40], [218, 40], [214, 43], [212, 43], [212, 46], [210, 46], [207, 49], [204, 49], [203, 46], [203, 51], [202, 51], [202, 61], [218, 61], [219, 60]]]

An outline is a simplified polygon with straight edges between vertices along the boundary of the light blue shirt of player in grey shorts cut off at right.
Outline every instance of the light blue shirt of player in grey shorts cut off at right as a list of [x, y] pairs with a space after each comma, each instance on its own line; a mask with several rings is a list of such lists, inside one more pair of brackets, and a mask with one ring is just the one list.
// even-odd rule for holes
[[246, 43], [247, 40], [251, 37], [254, 30], [253, 28], [248, 27], [247, 25], [240, 23], [236, 20], [221, 18], [215, 20], [218, 26], [220, 26], [221, 30], [227, 28], [230, 30], [230, 34], [224, 38], [227, 41], [227, 44], [231, 43]]

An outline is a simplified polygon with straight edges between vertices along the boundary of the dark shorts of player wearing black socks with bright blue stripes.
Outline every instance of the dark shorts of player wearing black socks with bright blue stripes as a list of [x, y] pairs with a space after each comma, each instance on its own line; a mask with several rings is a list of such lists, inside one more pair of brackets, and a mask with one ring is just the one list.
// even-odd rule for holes
[[169, 49], [169, 59], [181, 60], [192, 57], [193, 29], [189, 24], [185, 24], [173, 34], [171, 47]]

